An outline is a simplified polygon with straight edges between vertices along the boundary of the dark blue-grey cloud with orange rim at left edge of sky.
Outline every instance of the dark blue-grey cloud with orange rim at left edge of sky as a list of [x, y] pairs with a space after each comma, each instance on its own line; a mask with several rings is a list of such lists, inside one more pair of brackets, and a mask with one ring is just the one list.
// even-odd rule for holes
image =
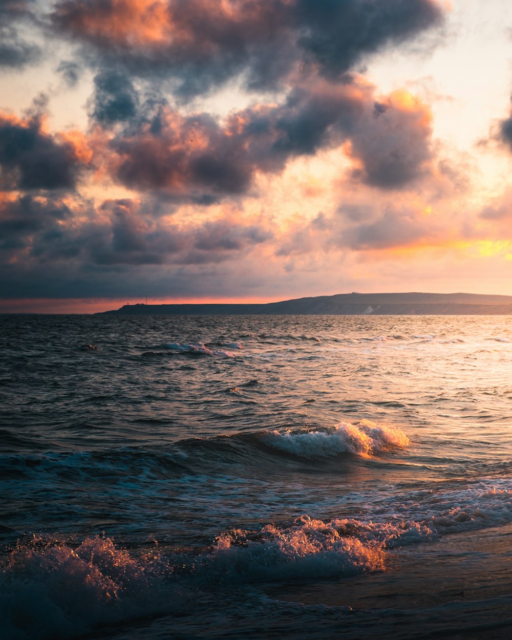
[[40, 116], [21, 120], [0, 113], [3, 189], [73, 189], [84, 160], [72, 136], [46, 133]]

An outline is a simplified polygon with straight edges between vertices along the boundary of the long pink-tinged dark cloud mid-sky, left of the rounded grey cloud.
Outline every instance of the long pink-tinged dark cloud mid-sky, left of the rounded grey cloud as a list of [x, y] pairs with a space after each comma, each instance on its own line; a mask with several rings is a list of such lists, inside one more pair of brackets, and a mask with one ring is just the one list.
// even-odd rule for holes
[[343, 94], [329, 100], [303, 91], [282, 107], [246, 109], [226, 124], [164, 109], [151, 124], [111, 141], [113, 170], [126, 185], [196, 200], [246, 193], [257, 170], [280, 171], [289, 157], [313, 154], [326, 129], [348, 111], [356, 117], [358, 108]]

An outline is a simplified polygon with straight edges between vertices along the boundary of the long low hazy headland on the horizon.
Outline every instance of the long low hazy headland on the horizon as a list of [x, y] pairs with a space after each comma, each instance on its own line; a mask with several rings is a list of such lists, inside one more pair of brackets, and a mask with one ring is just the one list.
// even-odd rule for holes
[[123, 316], [508, 316], [512, 296], [474, 293], [340, 293], [266, 304], [124, 305]]

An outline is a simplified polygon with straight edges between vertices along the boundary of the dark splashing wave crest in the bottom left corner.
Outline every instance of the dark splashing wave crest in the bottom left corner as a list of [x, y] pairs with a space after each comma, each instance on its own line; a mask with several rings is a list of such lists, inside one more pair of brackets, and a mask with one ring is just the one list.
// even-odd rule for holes
[[135, 559], [109, 538], [86, 538], [76, 548], [51, 538], [19, 543], [0, 568], [0, 636], [67, 639], [179, 607], [180, 595], [163, 589], [163, 573], [155, 557]]

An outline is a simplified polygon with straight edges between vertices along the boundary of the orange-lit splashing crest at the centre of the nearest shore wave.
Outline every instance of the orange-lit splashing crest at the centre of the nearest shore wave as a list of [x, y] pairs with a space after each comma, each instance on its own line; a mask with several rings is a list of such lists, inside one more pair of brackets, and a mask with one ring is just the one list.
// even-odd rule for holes
[[224, 579], [272, 581], [347, 577], [385, 570], [386, 550], [437, 534], [417, 522], [330, 522], [303, 515], [290, 527], [268, 524], [259, 532], [235, 529], [213, 547], [214, 570]]

